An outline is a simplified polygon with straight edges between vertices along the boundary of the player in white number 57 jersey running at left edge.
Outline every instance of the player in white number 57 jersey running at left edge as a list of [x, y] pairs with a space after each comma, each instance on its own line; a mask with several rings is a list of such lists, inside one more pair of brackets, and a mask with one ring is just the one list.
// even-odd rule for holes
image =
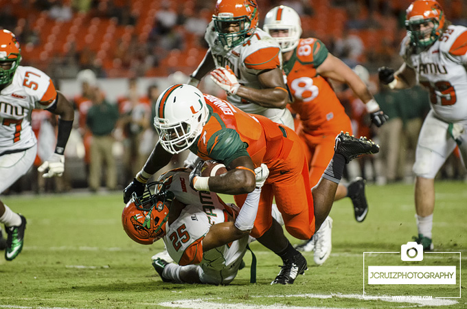
[[[14, 34], [0, 30], [0, 193], [26, 174], [36, 157], [36, 137], [31, 128], [33, 109], [60, 115], [56, 149], [39, 172], [43, 177], [62, 176], [63, 152], [73, 124], [73, 106], [56, 91], [52, 80], [34, 67], [22, 67], [21, 49]], [[0, 201], [0, 222], [8, 235], [5, 259], [13, 260], [23, 249], [26, 219]]]

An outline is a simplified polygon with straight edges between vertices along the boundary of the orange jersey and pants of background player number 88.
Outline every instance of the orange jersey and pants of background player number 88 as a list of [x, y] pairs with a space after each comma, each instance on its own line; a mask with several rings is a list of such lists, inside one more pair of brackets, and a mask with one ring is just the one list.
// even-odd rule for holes
[[310, 184], [315, 186], [334, 155], [334, 139], [341, 131], [352, 133], [350, 118], [317, 67], [328, 49], [317, 38], [301, 38], [293, 56], [284, 62], [287, 85], [293, 95], [291, 108], [299, 115], [297, 134], [306, 144]]

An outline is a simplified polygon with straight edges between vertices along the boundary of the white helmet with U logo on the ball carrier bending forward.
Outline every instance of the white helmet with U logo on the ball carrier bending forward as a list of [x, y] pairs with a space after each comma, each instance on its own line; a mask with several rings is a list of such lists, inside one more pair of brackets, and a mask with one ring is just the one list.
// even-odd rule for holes
[[159, 143], [174, 155], [192, 146], [209, 116], [203, 93], [189, 84], [168, 87], [159, 95], [155, 108]]

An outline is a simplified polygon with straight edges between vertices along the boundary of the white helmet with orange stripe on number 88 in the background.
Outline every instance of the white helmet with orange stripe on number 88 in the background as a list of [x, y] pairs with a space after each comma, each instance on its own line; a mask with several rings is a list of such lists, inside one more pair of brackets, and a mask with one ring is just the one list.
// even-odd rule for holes
[[263, 30], [271, 34], [271, 30], [288, 30], [288, 36], [275, 36], [282, 52], [289, 52], [298, 45], [301, 36], [300, 16], [286, 5], [279, 5], [266, 14]]

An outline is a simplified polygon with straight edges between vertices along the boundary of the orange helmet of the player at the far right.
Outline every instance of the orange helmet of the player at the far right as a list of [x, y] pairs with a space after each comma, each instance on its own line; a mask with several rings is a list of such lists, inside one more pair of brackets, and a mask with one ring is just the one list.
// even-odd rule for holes
[[[433, 27], [427, 27], [429, 22]], [[420, 30], [424, 25], [425, 29]], [[444, 12], [437, 1], [416, 0], [407, 9], [405, 27], [411, 37], [411, 44], [421, 52], [440, 38], [444, 27]]]

